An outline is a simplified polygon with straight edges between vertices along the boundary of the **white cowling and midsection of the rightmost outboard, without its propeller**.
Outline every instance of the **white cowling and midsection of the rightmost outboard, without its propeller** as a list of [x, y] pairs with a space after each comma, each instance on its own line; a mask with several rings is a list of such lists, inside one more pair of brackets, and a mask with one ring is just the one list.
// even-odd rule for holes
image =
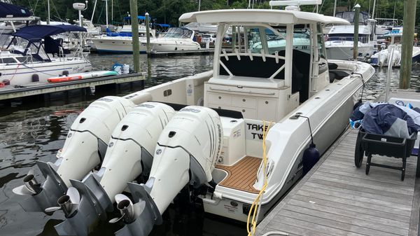
[[172, 118], [158, 140], [149, 177], [159, 180], [151, 196], [160, 214], [188, 181], [195, 187], [211, 181], [222, 136], [218, 113], [207, 107], [186, 106]]

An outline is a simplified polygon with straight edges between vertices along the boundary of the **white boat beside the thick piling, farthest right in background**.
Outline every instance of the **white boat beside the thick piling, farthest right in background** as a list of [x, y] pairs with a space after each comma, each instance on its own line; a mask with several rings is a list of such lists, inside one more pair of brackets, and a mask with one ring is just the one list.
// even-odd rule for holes
[[[400, 67], [401, 62], [401, 43], [402, 43], [402, 27], [393, 27], [391, 32], [384, 34], [384, 38], [388, 39], [389, 46], [380, 50], [370, 57], [370, 64], [375, 67], [388, 67], [389, 61], [392, 62], [391, 67]], [[420, 47], [413, 46], [412, 63], [420, 62]]]

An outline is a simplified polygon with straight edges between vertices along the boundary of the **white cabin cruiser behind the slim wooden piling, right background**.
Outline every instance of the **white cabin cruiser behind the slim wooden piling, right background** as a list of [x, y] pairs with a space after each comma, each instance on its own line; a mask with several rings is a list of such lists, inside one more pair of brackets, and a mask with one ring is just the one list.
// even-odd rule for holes
[[[354, 22], [354, 12], [337, 13], [336, 17]], [[375, 20], [369, 19], [367, 13], [360, 13], [358, 29], [358, 58], [370, 57], [377, 52]], [[334, 25], [328, 32], [325, 41], [327, 58], [336, 60], [349, 60], [353, 58], [354, 25]]]

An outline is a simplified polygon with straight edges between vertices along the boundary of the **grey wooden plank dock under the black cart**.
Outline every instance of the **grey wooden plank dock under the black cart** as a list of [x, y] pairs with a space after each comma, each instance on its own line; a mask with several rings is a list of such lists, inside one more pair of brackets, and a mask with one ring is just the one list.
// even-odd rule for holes
[[[311, 171], [258, 225], [255, 235], [417, 235], [420, 186], [416, 157], [407, 158], [405, 181], [394, 169], [354, 165], [357, 130], [347, 130]], [[373, 156], [385, 165], [400, 159]], [[275, 235], [275, 234], [274, 234]]]

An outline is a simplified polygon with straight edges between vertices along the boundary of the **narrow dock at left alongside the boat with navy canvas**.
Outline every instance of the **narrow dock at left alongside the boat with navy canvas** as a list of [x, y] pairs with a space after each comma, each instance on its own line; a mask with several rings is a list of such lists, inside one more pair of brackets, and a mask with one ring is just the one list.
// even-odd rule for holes
[[37, 82], [25, 85], [6, 85], [0, 88], [0, 102], [7, 99], [17, 99], [34, 95], [48, 95], [55, 92], [65, 92], [83, 88], [95, 88], [103, 85], [120, 85], [124, 83], [133, 83], [136, 81], [144, 81], [144, 74], [124, 74], [62, 83]]

